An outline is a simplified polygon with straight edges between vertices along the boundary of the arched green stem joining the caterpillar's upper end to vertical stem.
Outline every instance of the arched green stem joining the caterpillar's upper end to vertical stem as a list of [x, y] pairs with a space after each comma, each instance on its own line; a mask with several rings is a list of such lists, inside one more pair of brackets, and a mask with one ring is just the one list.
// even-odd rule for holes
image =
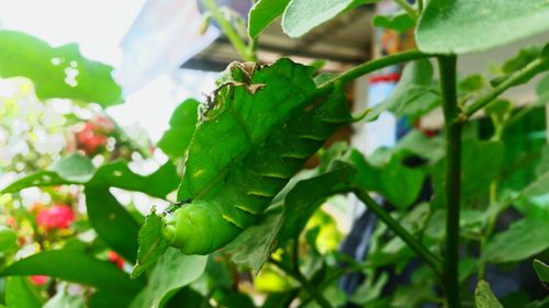
[[432, 55], [424, 54], [418, 50], [406, 50], [402, 53], [396, 53], [396, 54], [391, 54], [389, 56], [385, 56], [383, 58], [370, 60], [367, 62], [363, 62], [359, 66], [356, 66], [347, 71], [341, 72], [340, 75], [336, 76], [335, 78], [328, 80], [324, 84], [322, 84], [320, 88], [328, 88], [333, 87], [333, 84], [337, 81], [340, 81], [343, 83], [347, 83], [349, 81], [352, 81], [363, 75], [370, 73], [372, 71], [393, 66], [393, 65], [399, 65], [403, 62], [407, 62], [411, 60], [417, 60], [417, 59], [425, 59], [432, 57]]

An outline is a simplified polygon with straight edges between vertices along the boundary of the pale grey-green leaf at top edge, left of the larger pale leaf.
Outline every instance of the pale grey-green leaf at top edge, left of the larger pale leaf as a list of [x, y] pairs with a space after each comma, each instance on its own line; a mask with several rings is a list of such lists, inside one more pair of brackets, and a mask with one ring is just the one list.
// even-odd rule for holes
[[291, 37], [299, 37], [346, 10], [377, 1], [291, 0], [282, 15], [282, 30]]

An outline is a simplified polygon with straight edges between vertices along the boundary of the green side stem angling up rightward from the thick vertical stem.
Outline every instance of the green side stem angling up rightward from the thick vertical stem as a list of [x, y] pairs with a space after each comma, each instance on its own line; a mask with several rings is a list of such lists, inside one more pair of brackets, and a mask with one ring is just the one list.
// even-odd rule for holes
[[495, 98], [505, 92], [505, 90], [523, 83], [537, 72], [541, 72], [549, 68], [549, 57], [538, 58], [529, 62], [526, 67], [515, 71], [507, 79], [497, 84], [492, 91], [478, 99], [474, 103], [470, 104], [467, 110], [460, 115], [460, 121], [464, 122], [472, 116], [475, 112], [490, 104]]

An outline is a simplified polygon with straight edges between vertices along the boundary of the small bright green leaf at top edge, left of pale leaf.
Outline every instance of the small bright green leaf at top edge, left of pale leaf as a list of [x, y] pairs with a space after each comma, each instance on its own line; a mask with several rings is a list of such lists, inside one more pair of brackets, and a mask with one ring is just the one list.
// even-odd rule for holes
[[290, 0], [259, 0], [248, 14], [248, 34], [256, 38], [259, 34], [278, 19]]

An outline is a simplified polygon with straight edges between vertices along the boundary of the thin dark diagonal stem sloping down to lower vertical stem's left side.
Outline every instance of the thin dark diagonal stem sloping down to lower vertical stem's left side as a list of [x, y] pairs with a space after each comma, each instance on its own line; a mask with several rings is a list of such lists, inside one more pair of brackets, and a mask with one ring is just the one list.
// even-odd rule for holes
[[363, 189], [355, 189], [355, 195], [366, 204], [381, 221], [383, 221], [389, 229], [396, 233], [417, 255], [419, 255], [427, 265], [433, 269], [435, 274], [442, 277], [440, 269], [440, 260], [430, 251], [428, 251], [414, 236], [412, 236], [399, 221], [394, 220], [389, 213], [386, 213]]

